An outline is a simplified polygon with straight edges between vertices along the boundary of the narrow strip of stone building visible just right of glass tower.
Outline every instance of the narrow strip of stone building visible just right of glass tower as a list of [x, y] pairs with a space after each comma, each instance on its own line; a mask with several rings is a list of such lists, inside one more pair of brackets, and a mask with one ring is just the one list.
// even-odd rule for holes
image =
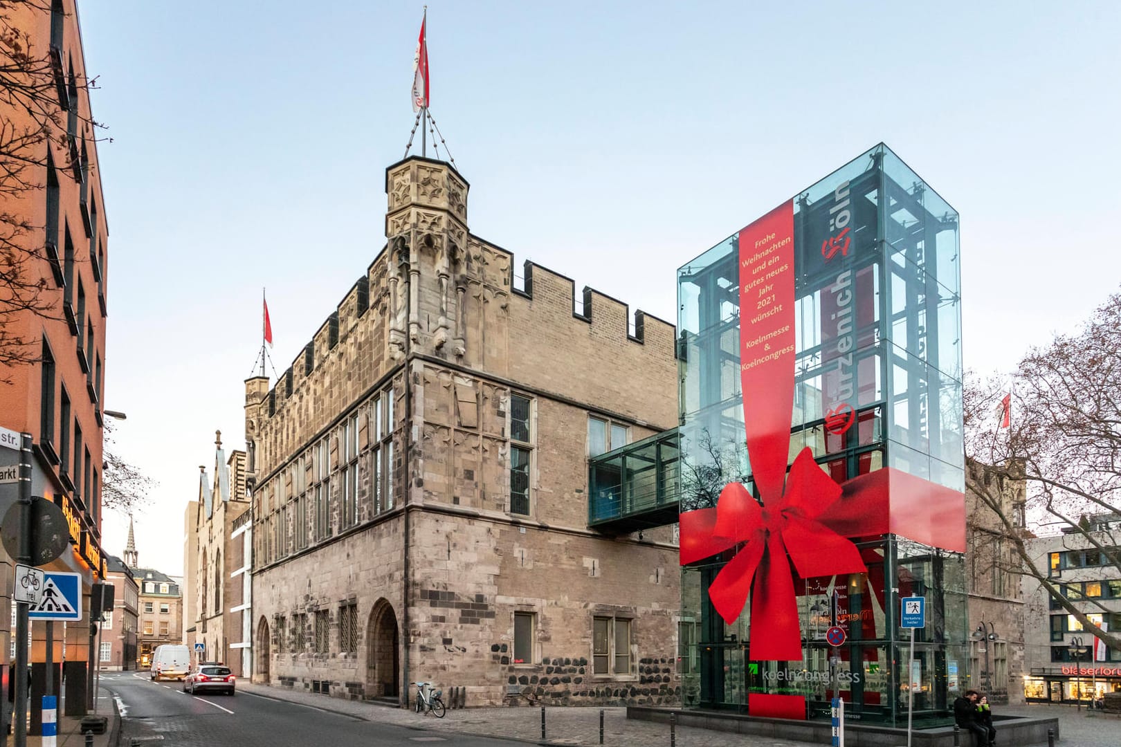
[[[1025, 529], [1025, 483], [1010, 480], [986, 494], [1001, 498], [999, 512]], [[1015, 538], [1000, 514], [972, 489], [965, 491], [965, 578], [970, 614], [970, 688], [994, 703], [1022, 703], [1025, 604]]]

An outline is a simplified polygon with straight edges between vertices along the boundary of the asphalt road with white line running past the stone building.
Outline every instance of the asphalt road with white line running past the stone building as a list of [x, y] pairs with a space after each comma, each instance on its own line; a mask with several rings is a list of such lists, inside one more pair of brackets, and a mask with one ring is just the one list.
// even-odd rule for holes
[[147, 673], [101, 675], [117, 700], [121, 746], [130, 747], [362, 747], [447, 745], [510, 747], [503, 739], [410, 729], [239, 692], [189, 695], [179, 682], [151, 682]]

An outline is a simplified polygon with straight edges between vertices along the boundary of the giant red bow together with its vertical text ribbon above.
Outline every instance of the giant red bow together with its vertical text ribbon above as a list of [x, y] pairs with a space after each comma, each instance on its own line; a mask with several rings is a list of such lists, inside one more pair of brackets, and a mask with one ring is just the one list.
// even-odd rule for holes
[[740, 379], [751, 476], [762, 506], [743, 485], [726, 485], [715, 508], [680, 515], [680, 557], [688, 563], [743, 543], [708, 597], [731, 624], [750, 591], [751, 659], [790, 661], [802, 659], [802, 636], [787, 553], [803, 578], [867, 569], [856, 547], [818, 521], [842, 488], [813, 452], [803, 449], [786, 474], [796, 347], [793, 203], [743, 228], [738, 246]]

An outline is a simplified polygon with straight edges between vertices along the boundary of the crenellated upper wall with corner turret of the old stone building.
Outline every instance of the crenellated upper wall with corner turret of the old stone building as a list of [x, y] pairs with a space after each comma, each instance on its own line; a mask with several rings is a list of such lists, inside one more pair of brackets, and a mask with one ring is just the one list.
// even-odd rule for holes
[[[251, 474], [317, 438], [410, 354], [501, 377], [520, 371], [527, 385], [541, 375], [530, 361], [559, 353], [622, 355], [636, 368], [671, 361], [674, 325], [632, 315], [612, 296], [584, 287], [576, 305], [571, 278], [529, 261], [525, 288], [515, 289], [513, 254], [467, 228], [467, 190], [443, 161], [409, 158], [386, 170], [381, 251], [271, 389], [260, 376], [245, 382]], [[546, 380], [556, 375], [545, 368]], [[552, 385], [564, 393], [573, 381]]]

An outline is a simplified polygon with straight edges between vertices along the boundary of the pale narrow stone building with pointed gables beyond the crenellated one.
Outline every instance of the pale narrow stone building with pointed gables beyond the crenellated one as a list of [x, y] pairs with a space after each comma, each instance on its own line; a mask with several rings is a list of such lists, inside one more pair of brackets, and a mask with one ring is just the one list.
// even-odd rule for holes
[[[248, 519], [250, 503], [245, 495], [245, 452], [232, 451], [229, 459], [222, 448], [222, 432], [214, 440], [214, 473], [200, 467], [198, 499], [192, 501], [185, 536], [193, 555], [185, 559], [184, 572], [189, 579], [184, 594], [184, 607], [193, 617], [185, 618], [184, 642], [204, 645], [203, 659], [225, 662], [238, 676], [242, 669], [242, 652], [249, 644], [248, 627], [242, 617], [251, 614], [247, 579], [243, 578], [243, 541], [234, 536], [242, 516]], [[188, 600], [189, 601], [186, 601]], [[194, 628], [192, 632], [191, 628]]]

